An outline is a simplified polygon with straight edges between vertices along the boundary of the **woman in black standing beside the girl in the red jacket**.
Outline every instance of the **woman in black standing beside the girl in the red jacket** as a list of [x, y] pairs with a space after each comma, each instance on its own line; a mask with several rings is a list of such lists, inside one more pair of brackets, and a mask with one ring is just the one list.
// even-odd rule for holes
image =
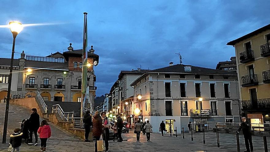
[[37, 145], [37, 130], [39, 128], [39, 115], [37, 114], [37, 109], [32, 108], [32, 114], [30, 115], [29, 121], [30, 121], [30, 127], [29, 127], [29, 142], [28, 144], [33, 144], [33, 133], [35, 135], [35, 144], [34, 146]]

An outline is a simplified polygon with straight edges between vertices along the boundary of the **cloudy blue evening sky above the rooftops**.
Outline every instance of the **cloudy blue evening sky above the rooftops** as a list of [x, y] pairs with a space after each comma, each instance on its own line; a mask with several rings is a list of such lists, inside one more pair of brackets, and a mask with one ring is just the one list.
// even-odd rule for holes
[[[16, 38], [16, 52], [47, 56], [69, 43], [82, 49], [83, 12], [88, 46], [100, 56], [97, 95], [109, 93], [121, 70], [177, 64], [178, 52], [183, 64], [215, 68], [235, 56], [227, 42], [270, 23], [269, 2], [262, 0], [1, 0], [0, 25], [56, 23], [25, 27]], [[0, 28], [0, 57], [10, 58], [11, 48], [10, 30]]]

